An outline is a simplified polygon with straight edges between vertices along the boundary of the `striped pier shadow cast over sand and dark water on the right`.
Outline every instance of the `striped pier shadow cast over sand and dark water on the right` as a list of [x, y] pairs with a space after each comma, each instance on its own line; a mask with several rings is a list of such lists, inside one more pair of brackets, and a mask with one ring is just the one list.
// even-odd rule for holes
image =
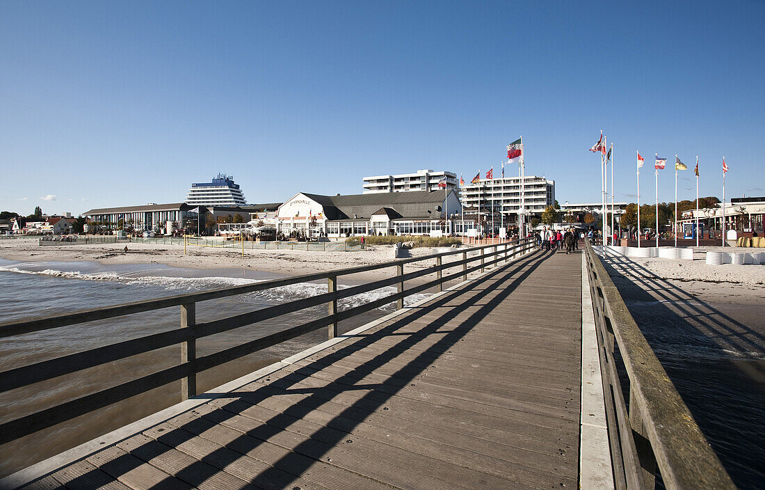
[[[731, 479], [739, 488], [760, 488], [765, 481], [762, 323], [747, 325], [628, 258], [607, 256], [603, 262]], [[754, 320], [762, 314], [755, 312]]]

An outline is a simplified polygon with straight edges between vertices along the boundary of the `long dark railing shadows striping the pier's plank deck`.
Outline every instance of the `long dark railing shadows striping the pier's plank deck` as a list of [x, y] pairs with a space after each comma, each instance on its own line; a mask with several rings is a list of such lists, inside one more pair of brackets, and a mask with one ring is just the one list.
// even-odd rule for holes
[[[145, 443], [129, 449], [124, 455], [117, 456], [112, 461], [106, 463], [101, 469], [93, 469], [83, 475], [68, 482], [67, 485], [76, 487], [77, 485], [92, 482], [101, 477], [101, 472], [105, 471], [117, 479], [132, 469], [142, 465], [149, 459], [159, 458], [173, 450], [173, 448], [187, 443], [194, 437], [205, 433], [210, 427], [216, 424], [226, 423], [233, 420], [237, 414], [252, 407], [262, 400], [267, 400], [275, 394], [307, 394], [299, 403], [291, 405], [282, 410], [282, 413], [276, 413], [267, 420], [255, 420], [249, 429], [245, 429], [241, 435], [233, 440], [228, 440], [223, 446], [208, 452], [199, 461], [190, 462], [175, 472], [174, 477], [181, 479], [189, 485], [197, 486], [209, 479], [213, 479], [221, 470], [225, 469], [238, 459], [246, 458], [246, 455], [256, 452], [260, 446], [269, 443], [272, 439], [278, 439], [288, 432], [288, 428], [293, 426], [299, 420], [303, 420], [309, 413], [317, 410], [327, 403], [332, 402], [341, 394], [350, 390], [366, 390], [366, 394], [358, 397], [355, 402], [345, 407], [340, 413], [327, 423], [324, 423], [313, 433], [301, 433], [301, 441], [294, 445], [288, 445], [288, 451], [278, 459], [270, 462], [267, 467], [259, 472], [253, 472], [249, 476], [249, 483], [256, 485], [257, 488], [292, 488], [294, 485], [300, 485], [304, 482], [303, 475], [309, 469], [314, 468], [318, 462], [323, 465], [332, 465], [324, 456], [330, 449], [343, 443], [343, 439], [353, 440], [352, 432], [355, 426], [361, 421], [355, 417], [354, 413], [358, 410], [373, 412], [381, 410], [402, 387], [407, 383], [414, 381], [418, 375], [425, 371], [438, 355], [444, 354], [457, 341], [460, 341], [470, 332], [478, 323], [487, 317], [496, 305], [503, 302], [504, 299], [513, 292], [519, 284], [522, 283], [534, 270], [536, 270], [545, 260], [549, 259], [549, 254], [534, 253], [513, 263], [498, 267], [496, 270], [483, 276], [480, 282], [468, 283], [461, 289], [446, 292], [439, 296], [433, 302], [418, 309], [413, 309], [400, 319], [393, 321], [390, 325], [379, 328], [372, 335], [368, 335], [360, 340], [351, 341], [347, 345], [342, 345], [337, 351], [333, 351], [334, 356], [348, 356], [361, 351], [366, 345], [372, 343], [375, 338], [383, 338], [389, 335], [397, 335], [400, 341], [394, 348], [388, 348], [379, 354], [373, 355], [368, 361], [363, 362], [353, 369], [352, 374], [338, 375], [337, 379], [330, 381], [322, 387], [305, 387], [301, 383], [311, 374], [317, 371], [317, 366], [308, 364], [297, 367], [294, 371], [283, 375], [274, 374], [259, 382], [261, 387], [254, 390], [239, 391], [233, 394], [227, 394], [226, 398], [218, 400], [216, 404], [209, 403], [208, 411], [203, 407], [194, 410], [192, 420], [185, 420], [184, 417], [177, 417], [180, 420], [173, 429], [158, 433], [156, 439], [145, 441]], [[508, 282], [505, 281], [509, 276], [513, 276]], [[448, 302], [460, 299], [461, 305], [458, 308], [448, 307]], [[483, 303], [485, 301], [485, 303]], [[462, 319], [453, 328], [444, 331], [442, 328], [453, 322], [457, 315], [465, 312], [467, 307], [479, 306], [478, 309]], [[429, 322], [415, 332], [401, 332], [402, 328], [408, 327], [412, 322], [424, 319], [427, 315], [434, 312], [440, 312], [438, 316], [430, 319]], [[444, 333], [445, 332], [445, 333]], [[428, 347], [423, 348], [419, 354], [410, 361], [407, 361], [392, 374], [396, 377], [396, 383], [383, 384], [359, 384], [366, 375], [372, 374], [379, 364], [386, 363], [398, 358], [405, 352], [412, 351], [422, 342], [428, 340], [431, 335], [438, 333], [440, 338]], [[233, 398], [233, 399], [232, 399]], [[201, 414], [202, 417], [197, 417]], [[355, 422], [349, 422], [353, 420]], [[343, 426], [343, 430], [337, 430], [338, 426]], [[295, 440], [294, 438], [290, 438]], [[284, 446], [283, 446], [284, 447]], [[352, 448], [349, 450], [353, 450]], [[354, 477], [353, 472], [346, 472], [350, 478]], [[368, 477], [356, 475], [361, 480]], [[151, 488], [164, 488], [164, 485], [171, 485], [173, 477], [168, 477], [160, 482], [156, 482]], [[369, 480], [366, 480], [367, 482]], [[348, 482], [346, 482], [347, 484]]]

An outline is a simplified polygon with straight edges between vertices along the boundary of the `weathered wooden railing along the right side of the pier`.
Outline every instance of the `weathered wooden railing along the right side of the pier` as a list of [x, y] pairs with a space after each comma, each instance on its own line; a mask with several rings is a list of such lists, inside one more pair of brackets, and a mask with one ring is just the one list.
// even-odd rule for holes
[[584, 253], [616, 488], [654, 488], [657, 466], [666, 488], [736, 488], [589, 241]]

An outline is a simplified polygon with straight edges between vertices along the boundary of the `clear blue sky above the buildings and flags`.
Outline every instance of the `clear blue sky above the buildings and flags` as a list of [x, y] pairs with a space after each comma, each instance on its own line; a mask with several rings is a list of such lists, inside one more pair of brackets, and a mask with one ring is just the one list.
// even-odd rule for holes
[[636, 150], [688, 164], [680, 199], [696, 155], [701, 195], [723, 155], [726, 197], [765, 195], [765, 3], [614, 3], [0, 2], [0, 210], [183, 201], [218, 172], [249, 202], [470, 180], [521, 135], [527, 175], [599, 202], [601, 129], [617, 201]]

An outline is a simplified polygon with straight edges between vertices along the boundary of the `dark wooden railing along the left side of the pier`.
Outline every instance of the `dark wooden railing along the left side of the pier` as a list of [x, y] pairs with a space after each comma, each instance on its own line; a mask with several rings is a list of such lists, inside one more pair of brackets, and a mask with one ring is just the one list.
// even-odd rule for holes
[[[147, 390], [161, 387], [175, 381], [181, 381], [181, 400], [187, 400], [197, 394], [196, 375], [200, 371], [214, 368], [220, 364], [242, 358], [245, 355], [269, 348], [273, 345], [288, 341], [300, 335], [314, 332], [319, 328], [327, 327], [329, 338], [337, 336], [337, 323], [353, 318], [363, 312], [379, 308], [391, 302], [397, 302], [398, 308], [403, 308], [405, 297], [423, 292], [431, 288], [438, 291], [443, 289], [444, 282], [455, 279], [467, 280], [467, 275], [474, 272], [483, 272], [488, 266], [496, 266], [502, 262], [513, 260], [534, 250], [533, 240], [524, 239], [511, 243], [473, 247], [470, 249], [455, 249], [446, 253], [436, 253], [421, 257], [394, 260], [392, 262], [376, 264], [372, 266], [351, 267], [341, 270], [333, 270], [323, 273], [312, 273], [303, 276], [294, 276], [287, 279], [275, 279], [261, 283], [253, 283], [245, 286], [234, 286], [223, 289], [213, 289], [205, 292], [195, 292], [167, 298], [153, 299], [142, 302], [125, 303], [122, 305], [107, 306], [90, 309], [67, 315], [50, 316], [44, 319], [30, 319], [15, 322], [0, 323], [0, 338], [8, 338], [15, 335], [23, 335], [30, 332], [47, 331], [67, 325], [76, 325], [96, 320], [112, 319], [123, 315], [132, 315], [140, 312], [155, 311], [171, 307], [180, 307], [181, 319], [179, 328], [168, 332], [160, 332], [141, 338], [119, 341], [112, 345], [93, 348], [75, 354], [65, 355], [59, 358], [41, 361], [34, 364], [12, 368], [0, 373], [0, 393], [26, 387], [41, 381], [47, 381], [65, 374], [82, 371], [99, 365], [118, 361], [136, 354], [154, 351], [158, 348], [166, 348], [172, 345], [180, 345], [180, 364], [166, 368], [152, 374], [133, 379], [115, 387], [109, 387], [83, 397], [61, 403], [55, 407], [31, 413], [14, 420], [0, 424], [0, 444], [5, 444], [23, 436], [28, 436], [39, 430], [47, 429], [57, 423], [79, 417], [93, 412], [112, 403], [117, 403], [129, 397], [142, 394]], [[472, 256], [468, 256], [468, 254]], [[460, 255], [457, 260], [444, 263], [444, 257]], [[435, 261], [434, 266], [405, 273], [404, 268], [408, 264]], [[381, 270], [395, 267], [396, 275], [379, 279], [360, 286], [352, 286], [344, 289], [337, 288], [337, 279], [350, 274], [364, 273], [373, 270]], [[444, 271], [454, 270], [445, 274]], [[435, 274], [435, 279], [425, 283], [405, 288], [405, 282], [417, 279], [428, 274]], [[197, 302], [210, 299], [219, 299], [228, 296], [236, 296], [251, 292], [263, 291], [297, 283], [306, 283], [317, 280], [327, 281], [327, 292], [304, 299], [295, 299], [279, 305], [269, 306], [264, 309], [246, 312], [228, 318], [213, 320], [210, 322], [196, 321]], [[358, 305], [353, 308], [337, 311], [337, 301], [350, 296], [356, 296], [363, 292], [373, 291], [386, 286], [396, 286], [396, 293]], [[252, 325], [266, 319], [298, 312], [317, 305], [327, 305], [327, 315], [304, 322], [301, 325], [286, 328], [281, 332], [265, 335], [251, 341], [246, 341], [223, 351], [208, 354], [202, 357], [196, 355], [196, 341], [209, 335], [221, 332], [229, 332], [235, 328]]]

